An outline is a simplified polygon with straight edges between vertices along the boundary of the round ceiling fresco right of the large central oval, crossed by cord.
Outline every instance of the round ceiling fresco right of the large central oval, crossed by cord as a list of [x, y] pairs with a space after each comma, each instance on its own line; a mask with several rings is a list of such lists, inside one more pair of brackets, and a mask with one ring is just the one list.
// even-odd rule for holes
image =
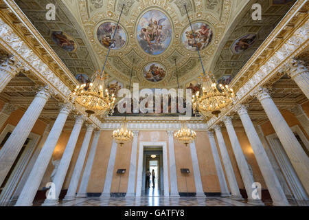
[[[204, 50], [212, 40], [213, 32], [211, 28], [206, 23], [198, 22], [192, 24], [192, 29], [189, 25], [183, 32], [181, 38], [183, 46], [190, 51], [196, 51], [197, 47], [199, 50]], [[194, 37], [196, 42], [194, 41]]]

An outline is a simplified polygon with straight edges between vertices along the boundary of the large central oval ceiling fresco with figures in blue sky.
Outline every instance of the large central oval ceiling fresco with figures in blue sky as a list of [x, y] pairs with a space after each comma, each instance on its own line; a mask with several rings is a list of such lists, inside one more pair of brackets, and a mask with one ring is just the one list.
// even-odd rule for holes
[[147, 54], [162, 54], [172, 40], [170, 19], [159, 10], [143, 14], [137, 24], [137, 41]]

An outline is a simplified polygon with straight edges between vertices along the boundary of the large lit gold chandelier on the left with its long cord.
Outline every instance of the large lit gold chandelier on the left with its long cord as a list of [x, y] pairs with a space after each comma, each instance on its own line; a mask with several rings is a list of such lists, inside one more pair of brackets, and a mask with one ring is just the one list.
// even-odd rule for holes
[[[122, 5], [122, 12], [123, 10], [124, 5]], [[117, 26], [115, 28], [113, 39], [111, 42], [114, 42], [122, 12], [120, 12]], [[108, 78], [108, 74], [104, 73], [104, 67], [106, 65], [108, 55], [111, 52], [111, 46], [112, 43], [109, 45], [102, 71], [93, 74], [93, 83], [90, 83], [89, 85], [78, 85], [76, 89], [74, 89], [74, 91], [69, 94], [69, 100], [72, 100], [76, 104], [84, 107], [86, 109], [85, 112], [87, 113], [88, 117], [90, 117], [90, 115], [102, 115], [102, 117], [106, 117], [109, 113], [113, 113], [115, 104], [114, 94], [109, 96], [108, 89], [104, 88], [106, 84], [106, 79]]]

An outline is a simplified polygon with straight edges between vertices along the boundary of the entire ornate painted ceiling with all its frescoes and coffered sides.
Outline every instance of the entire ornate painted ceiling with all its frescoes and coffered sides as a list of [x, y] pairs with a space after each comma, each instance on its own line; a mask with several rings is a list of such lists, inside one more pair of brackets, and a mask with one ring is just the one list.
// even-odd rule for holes
[[[262, 5], [262, 21], [251, 19], [251, 5]], [[123, 3], [106, 72], [110, 83], [176, 87], [175, 59], [182, 87], [195, 82], [203, 63], [229, 83], [292, 6], [275, 0], [16, 0], [21, 10], [80, 81], [102, 67]], [[47, 21], [47, 3], [56, 20]], [[185, 14], [186, 3], [197, 45]], [[231, 76], [231, 77], [229, 77]]]

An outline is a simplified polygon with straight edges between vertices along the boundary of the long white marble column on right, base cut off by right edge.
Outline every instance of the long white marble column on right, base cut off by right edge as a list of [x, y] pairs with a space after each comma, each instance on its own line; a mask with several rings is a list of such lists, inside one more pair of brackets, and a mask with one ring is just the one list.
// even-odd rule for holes
[[273, 129], [277, 133], [284, 150], [290, 159], [295, 171], [304, 185], [307, 193], [309, 194], [309, 158], [306, 155], [304, 149], [299, 144], [293, 131], [284, 120], [284, 117], [280, 113], [279, 109], [273, 102], [273, 99], [268, 94], [265, 88], [258, 88], [257, 98], [262, 104], [264, 111], [266, 112], [268, 119], [273, 125]]

